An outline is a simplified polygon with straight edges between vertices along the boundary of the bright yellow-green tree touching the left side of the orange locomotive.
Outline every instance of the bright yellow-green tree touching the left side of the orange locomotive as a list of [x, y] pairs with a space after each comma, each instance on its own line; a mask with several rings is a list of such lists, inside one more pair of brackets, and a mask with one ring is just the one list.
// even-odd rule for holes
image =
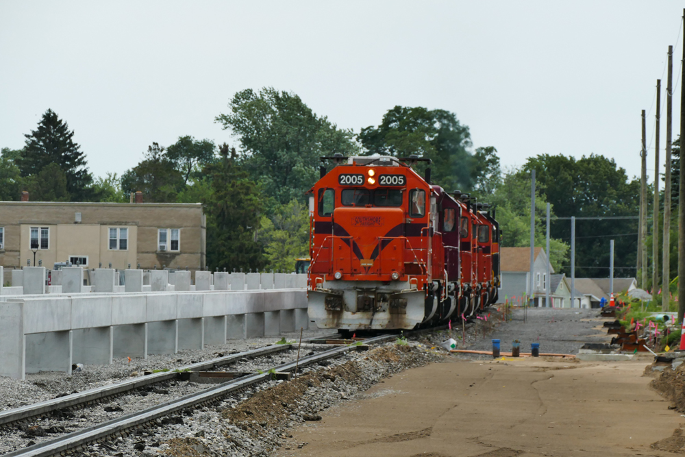
[[260, 239], [266, 268], [295, 271], [295, 260], [308, 255], [309, 210], [296, 199], [277, 206], [271, 217], [262, 217]]

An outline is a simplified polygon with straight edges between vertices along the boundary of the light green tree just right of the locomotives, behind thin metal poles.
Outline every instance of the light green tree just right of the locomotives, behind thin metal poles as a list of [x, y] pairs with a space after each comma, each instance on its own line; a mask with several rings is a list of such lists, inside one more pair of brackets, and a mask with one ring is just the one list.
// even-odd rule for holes
[[[545, 247], [547, 203], [540, 186], [535, 197], [535, 245]], [[503, 247], [530, 246], [530, 175], [521, 169], [510, 169], [488, 199], [497, 208], [497, 221], [502, 230]], [[550, 217], [554, 219], [554, 207]], [[549, 240], [549, 262], [559, 272], [569, 260], [569, 245], [558, 238]]]

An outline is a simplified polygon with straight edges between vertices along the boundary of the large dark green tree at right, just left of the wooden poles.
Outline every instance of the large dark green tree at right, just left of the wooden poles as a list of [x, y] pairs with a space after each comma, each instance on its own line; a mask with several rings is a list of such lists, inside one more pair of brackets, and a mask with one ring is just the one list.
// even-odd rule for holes
[[[629, 181], [613, 159], [591, 154], [576, 160], [543, 154], [529, 158], [523, 173], [536, 170], [536, 180], [558, 217], [637, 216], [640, 182]], [[530, 179], [530, 178], [529, 178]], [[530, 190], [529, 190], [530, 193]], [[651, 214], [648, 213], [648, 214]], [[609, 243], [614, 238], [614, 275], [634, 276], [637, 219], [577, 220], [575, 223], [575, 274], [609, 276]], [[571, 241], [571, 222], [552, 221], [554, 238]], [[566, 269], [569, 273], [570, 269]]]

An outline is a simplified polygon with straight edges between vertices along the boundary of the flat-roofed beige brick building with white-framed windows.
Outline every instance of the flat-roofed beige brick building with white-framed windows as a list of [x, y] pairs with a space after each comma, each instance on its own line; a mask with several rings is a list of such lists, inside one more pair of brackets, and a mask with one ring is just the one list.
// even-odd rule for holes
[[0, 201], [0, 265], [203, 269], [205, 221], [201, 203]]

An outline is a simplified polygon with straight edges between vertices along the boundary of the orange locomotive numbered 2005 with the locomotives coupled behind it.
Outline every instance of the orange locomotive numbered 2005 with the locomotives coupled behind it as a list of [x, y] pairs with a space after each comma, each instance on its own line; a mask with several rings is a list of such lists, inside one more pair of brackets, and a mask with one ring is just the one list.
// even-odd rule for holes
[[322, 166], [310, 190], [308, 299], [317, 327], [413, 329], [495, 302], [497, 223], [468, 195], [430, 184], [430, 169], [422, 177], [410, 166], [429, 160], [322, 159], [338, 166]]

